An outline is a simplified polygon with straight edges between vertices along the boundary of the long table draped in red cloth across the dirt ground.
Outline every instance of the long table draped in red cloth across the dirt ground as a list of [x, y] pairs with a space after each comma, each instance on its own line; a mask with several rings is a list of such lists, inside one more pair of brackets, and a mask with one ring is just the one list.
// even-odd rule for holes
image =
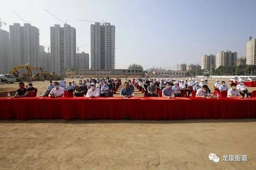
[[256, 117], [256, 97], [0, 98], [0, 119], [239, 119]]

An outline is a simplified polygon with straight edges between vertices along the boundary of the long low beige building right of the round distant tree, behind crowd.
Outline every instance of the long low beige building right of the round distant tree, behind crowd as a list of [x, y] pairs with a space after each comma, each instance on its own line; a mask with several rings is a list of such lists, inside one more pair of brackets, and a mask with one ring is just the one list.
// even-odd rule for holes
[[153, 70], [152, 77], [186, 77], [186, 71]]

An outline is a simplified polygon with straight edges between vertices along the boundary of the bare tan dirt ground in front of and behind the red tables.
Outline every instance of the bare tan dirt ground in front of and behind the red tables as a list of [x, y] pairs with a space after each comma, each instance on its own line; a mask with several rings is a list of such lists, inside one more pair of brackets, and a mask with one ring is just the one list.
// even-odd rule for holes
[[0, 120], [0, 170], [255, 170], [255, 150], [256, 119]]

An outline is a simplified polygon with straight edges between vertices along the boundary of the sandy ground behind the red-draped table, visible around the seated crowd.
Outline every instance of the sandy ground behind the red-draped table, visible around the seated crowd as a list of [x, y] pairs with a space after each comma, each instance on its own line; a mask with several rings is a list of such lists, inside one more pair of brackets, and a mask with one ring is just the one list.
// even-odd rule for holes
[[[184, 78], [180, 78], [180, 79], [184, 79]], [[189, 78], [188, 78], [189, 79]], [[75, 82], [78, 82], [79, 79], [73, 79], [75, 80]], [[70, 78], [66, 78], [66, 82], [71, 82], [73, 81], [72, 79]], [[84, 79], [83, 79], [84, 80]], [[196, 80], [200, 81], [200, 78], [197, 78]], [[221, 83], [221, 81], [226, 81], [228, 87], [230, 88], [230, 83], [228, 82], [228, 79], [218, 79], [219, 82]], [[54, 81], [53, 81], [54, 82]], [[122, 83], [124, 82], [124, 79], [122, 79]], [[208, 79], [208, 86], [211, 90], [211, 93], [213, 94], [213, 85], [215, 83], [215, 78], [209, 78]], [[39, 81], [35, 81], [35, 82], [32, 82], [33, 84], [33, 87], [35, 88], [38, 88], [38, 93], [37, 93], [37, 96], [39, 96], [39, 93], [41, 92], [42, 94], [44, 94], [45, 90], [47, 89], [47, 86], [49, 85], [49, 82], [48, 81], [45, 81], [45, 82], [39, 82]], [[27, 83], [25, 82], [25, 85], [27, 85]], [[15, 82], [13, 84], [3, 84], [3, 83], [0, 83], [0, 92], [1, 91], [11, 91], [11, 90], [17, 90], [18, 88], [18, 82]], [[122, 88], [122, 85], [121, 87], [119, 88], [119, 91], [117, 92], [117, 94], [114, 94], [114, 96], [119, 96], [120, 94], [120, 89]], [[256, 88], [248, 88], [249, 91], [253, 91], [253, 90], [256, 90]], [[141, 94], [141, 92], [139, 91], [135, 91], [135, 96], [143, 96], [143, 94]]]

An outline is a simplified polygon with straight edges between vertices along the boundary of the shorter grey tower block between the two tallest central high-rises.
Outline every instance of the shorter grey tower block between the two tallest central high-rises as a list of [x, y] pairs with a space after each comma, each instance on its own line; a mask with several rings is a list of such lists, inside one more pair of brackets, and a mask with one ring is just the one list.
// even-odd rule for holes
[[76, 53], [75, 59], [75, 68], [76, 69], [89, 69], [89, 54], [84, 53]]

